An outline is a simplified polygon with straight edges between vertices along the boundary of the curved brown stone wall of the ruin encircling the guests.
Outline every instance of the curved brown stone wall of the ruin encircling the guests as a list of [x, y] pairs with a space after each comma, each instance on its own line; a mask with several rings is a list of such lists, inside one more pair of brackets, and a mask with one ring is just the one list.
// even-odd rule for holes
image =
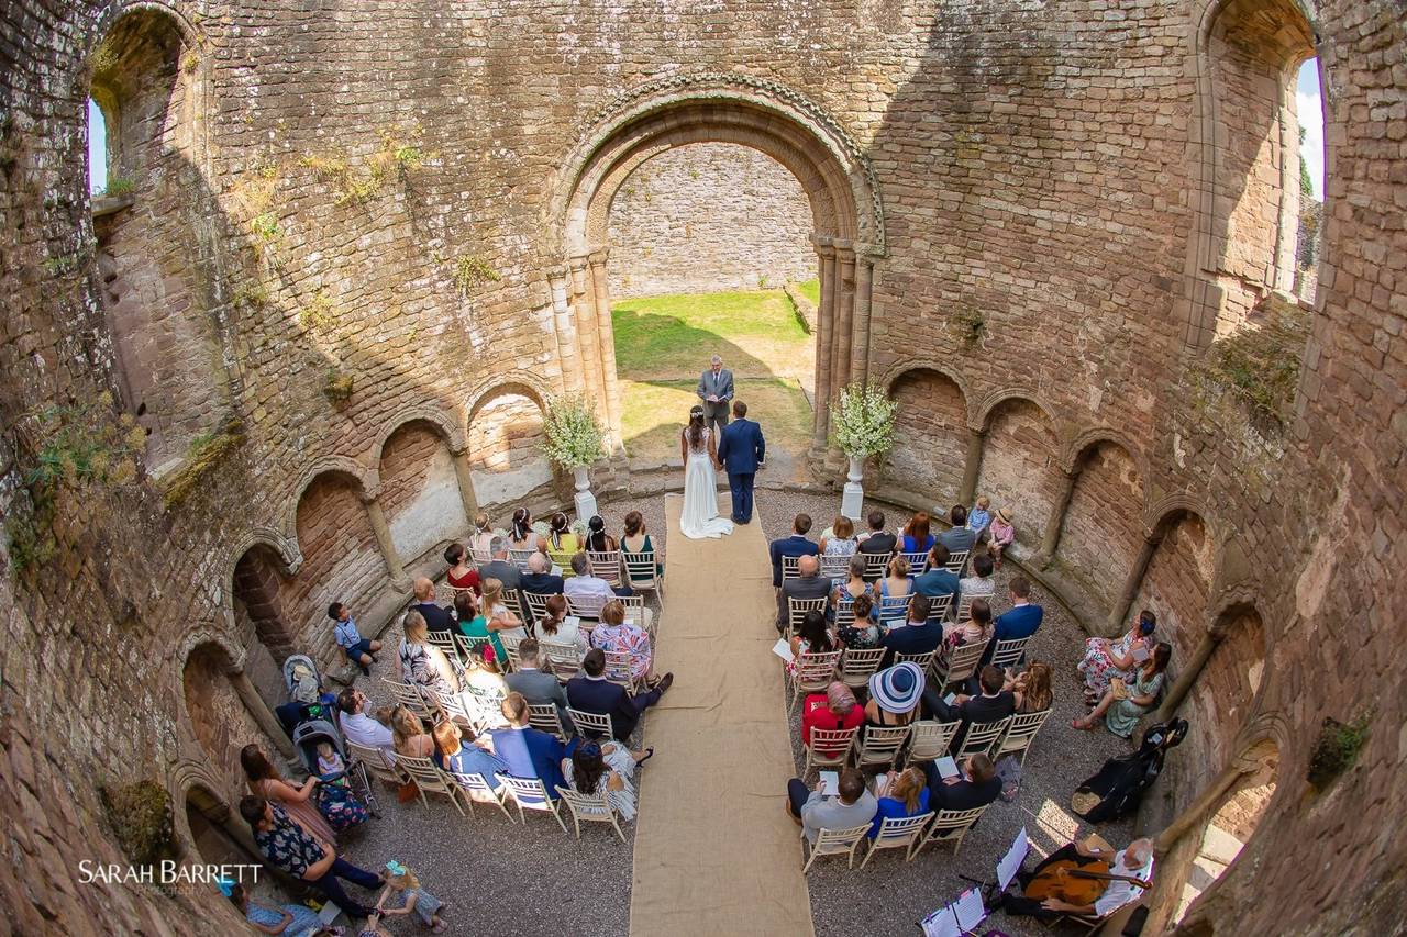
[[[498, 522], [515, 497], [550, 487], [522, 442], [537, 432], [540, 401], [561, 390], [608, 397], [599, 339], [609, 322], [591, 297], [609, 270], [566, 256], [561, 236], [577, 149], [626, 107], [616, 96], [706, 68], [746, 76], [711, 90], [709, 113], [740, 120], [760, 98], [777, 108], [803, 100], [823, 115], [815, 125], [841, 128], [868, 156], [885, 234], [870, 373], [892, 380], [941, 362], [965, 390], [969, 426], [983, 423], [988, 401], [1040, 401], [1044, 416], [1020, 402], [996, 412], [979, 483], [1019, 505], [1024, 549], [1057, 522], [1071, 449], [1102, 428], [1148, 466], [1138, 522], [1110, 514], [1102, 536], [1137, 556], [1169, 511], [1213, 521], [1200, 543], [1180, 530], [1165, 539], [1134, 608], [1161, 602], [1179, 629], [1175, 660], [1188, 661], [1227, 606], [1254, 605], [1268, 623], [1265, 675], [1249, 699], [1224, 703], [1244, 722], [1231, 741], [1197, 736], [1178, 757], [1228, 765], [1266, 739], [1282, 757], [1259, 827], [1192, 906], [1186, 931], [1390, 931], [1404, 917], [1407, 868], [1407, 847], [1383, 833], [1407, 799], [1407, 592], [1397, 585], [1407, 234], [1392, 210], [1407, 184], [1407, 82], [1394, 70], [1407, 37], [1396, 3], [1324, 0], [1313, 24], [1331, 176], [1314, 332], [1289, 418], [1268, 428], [1234, 390], [1195, 393], [1189, 377], [1189, 352], [1206, 339], [1197, 311], [1220, 308], [1209, 298], [1220, 255], [1204, 235], [1241, 229], [1224, 224], [1237, 203], [1210, 189], [1209, 173], [1233, 153], [1228, 135], [1206, 129], [1207, 101], [1237, 103], [1209, 98], [1199, 68], [1216, 68], [1220, 52], [1202, 37], [1221, 35], [1223, 15], [1304, 35], [1300, 6], [749, 0], [720, 28], [712, 7], [633, 1], [567, 17], [542, 4], [366, 0], [328, 17], [273, 0], [155, 0], [132, 14], [156, 18], [136, 32], [153, 42], [180, 32], [179, 93], [165, 98], [159, 172], [124, 211], [160, 217], [173, 225], [166, 243], [191, 245], [148, 256], [163, 283], [186, 284], [180, 314], [194, 317], [155, 339], [113, 333], [86, 196], [87, 82], [98, 42], [122, 27], [122, 4], [4, 7], [0, 25], [23, 41], [0, 79], [0, 506], [11, 533], [38, 512], [53, 540], [52, 557], [30, 566], [7, 540], [0, 580], [11, 701], [0, 812], [10, 853], [32, 869], [21, 884], [13, 864], [0, 867], [11, 927], [238, 927], [212, 892], [77, 885], [75, 857], [121, 861], [100, 777], [122, 765], [165, 785], [179, 808], [197, 784], [228, 789], [197, 737], [182, 674], [204, 644], [234, 667], [267, 653], [260, 630], [272, 633], [272, 619], [238, 613], [232, 599], [250, 550], [277, 577], [267, 581], [293, 646], [331, 653], [319, 608], [331, 598], [401, 601], [388, 571], [394, 535], [381, 537], [370, 518], [384, 497], [381, 440], [402, 423], [440, 426], [449, 452], [470, 460], [470, 494]], [[167, 7], [170, 17], [159, 11]], [[661, 108], [675, 104], [661, 97]], [[772, 155], [795, 158], [781, 146]], [[819, 191], [848, 180], [823, 162], [805, 183]], [[1271, 205], [1244, 208], [1262, 218]], [[841, 284], [840, 295], [853, 290]], [[174, 314], [124, 321], [166, 321], [162, 312]], [[221, 407], [241, 421], [238, 442], [211, 464], [184, 440], [163, 447], [177, 459], [160, 480], [149, 463], [135, 481], [89, 464], [42, 491], [23, 484], [41, 457], [72, 454], [87, 438], [44, 429], [37, 407], [103, 407], [110, 391], [115, 421], [138, 408], [124, 342], [174, 340], [190, 362], [207, 336], [215, 398], [227, 394]], [[325, 393], [329, 373], [352, 378], [349, 397]], [[197, 397], [172, 400], [186, 409]], [[442, 450], [407, 452], [428, 461], [402, 464], [393, 481], [419, 477], [424, 490], [443, 478], [432, 454]], [[165, 480], [187, 470], [196, 484], [167, 498]], [[933, 484], [958, 487], [951, 476]], [[1076, 497], [1088, 515], [1089, 499]], [[1086, 566], [1081, 535], [1069, 543], [1076, 553], [1057, 560]], [[1324, 635], [1344, 620], [1358, 639], [1327, 661]], [[91, 665], [94, 647], [106, 649], [103, 667]], [[1252, 692], [1209, 667], [1224, 692]], [[1370, 701], [1362, 687], [1375, 688]], [[1369, 736], [1355, 764], [1311, 788], [1321, 719], [1359, 712]], [[187, 841], [184, 816], [177, 809]], [[1325, 854], [1338, 861], [1332, 877], [1320, 871]]]

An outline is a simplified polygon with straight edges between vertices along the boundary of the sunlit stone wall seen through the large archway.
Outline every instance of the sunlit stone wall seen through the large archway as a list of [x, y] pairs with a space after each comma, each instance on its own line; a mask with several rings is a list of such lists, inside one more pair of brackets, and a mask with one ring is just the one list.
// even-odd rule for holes
[[729, 144], [671, 149], [611, 205], [611, 295], [760, 290], [816, 276], [810, 204], [771, 156]]

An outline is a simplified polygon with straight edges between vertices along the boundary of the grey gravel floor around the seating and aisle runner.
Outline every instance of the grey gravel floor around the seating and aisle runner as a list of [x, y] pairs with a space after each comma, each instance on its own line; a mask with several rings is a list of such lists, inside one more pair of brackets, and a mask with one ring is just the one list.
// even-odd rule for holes
[[[726, 509], [726, 504], [727, 492], [723, 491], [720, 506]], [[791, 526], [796, 512], [806, 511], [815, 518], [819, 532], [829, 526], [837, 508], [839, 495], [758, 491], [754, 523], [760, 522], [764, 533], [775, 537]], [[630, 509], [644, 515], [656, 547], [667, 553], [664, 498], [606, 504], [601, 512], [609, 529], [619, 533], [622, 518]], [[891, 522], [905, 516], [899, 509], [888, 514]], [[998, 578], [1005, 582], [1012, 574], [1013, 567], [1007, 566]], [[1045, 622], [1033, 640], [1031, 651], [1036, 658], [1055, 664], [1055, 712], [1027, 757], [1017, 801], [998, 801], [989, 808], [964, 840], [958, 860], [953, 858], [950, 848], [936, 847], [929, 847], [913, 862], [905, 862], [898, 851], [881, 854], [862, 872], [847, 869], [840, 860], [817, 860], [809, 875], [809, 888], [819, 937], [912, 933], [919, 919], [967, 886], [960, 874], [993, 878], [996, 860], [1021, 826], [1026, 826], [1038, 855], [1068, 841], [1079, 827], [1068, 808], [1071, 792], [1104, 758], [1127, 751], [1128, 746], [1106, 732], [1076, 733], [1069, 727], [1069, 720], [1085, 712], [1074, 677], [1083, 633], [1038, 587], [1034, 599], [1045, 605]], [[384, 640], [394, 647], [400, 635], [387, 632]], [[373, 677], [359, 678], [359, 685], [373, 699], [381, 701], [386, 692], [380, 680], [394, 675], [394, 654], [383, 653]], [[781, 687], [778, 673], [778, 694]], [[798, 727], [799, 718], [794, 718], [792, 741], [799, 771], [803, 756]], [[784, 796], [782, 791], [777, 792], [778, 809]], [[484, 806], [477, 808], [474, 817], [460, 817], [442, 798], [432, 798], [431, 808], [425, 809], [418, 801], [398, 803], [390, 789], [380, 791], [380, 802], [381, 819], [345, 834], [343, 854], [367, 868], [380, 867], [390, 858], [408, 864], [426, 891], [449, 905], [446, 920], [450, 933], [591, 933], [605, 937], [629, 931], [633, 824], [622, 826], [626, 843], [598, 824], [585, 827], [578, 843], [570, 833], [563, 836], [552, 817], [542, 815], [529, 813], [526, 826], [509, 823], [501, 813]], [[1131, 836], [1131, 826], [1106, 824], [1099, 831], [1116, 846], [1123, 846]], [[1000, 914], [989, 919], [988, 926], [1013, 936], [1044, 933], [1034, 922]], [[419, 933], [416, 924], [404, 919], [393, 920], [387, 929], [397, 934]]]

